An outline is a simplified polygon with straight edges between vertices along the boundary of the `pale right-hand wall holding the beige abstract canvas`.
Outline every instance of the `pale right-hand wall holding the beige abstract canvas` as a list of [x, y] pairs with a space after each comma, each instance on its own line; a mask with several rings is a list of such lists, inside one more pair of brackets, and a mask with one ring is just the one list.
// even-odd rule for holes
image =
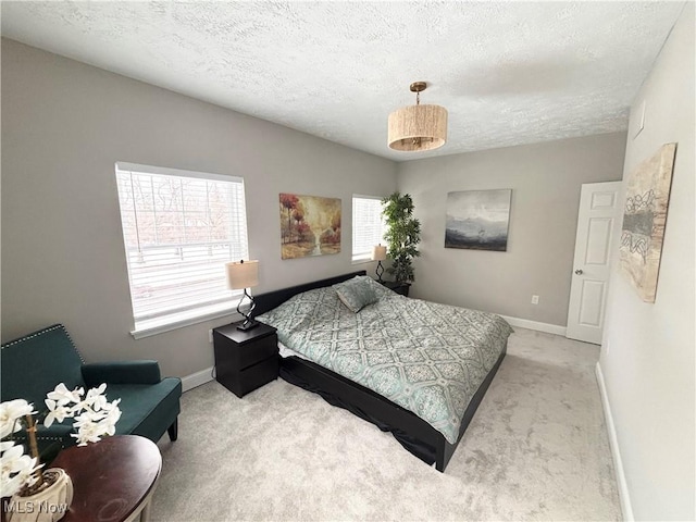
[[629, 135], [623, 175], [625, 185], [663, 144], [679, 144], [657, 297], [643, 302], [614, 268], [600, 356], [624, 494], [636, 520], [696, 519], [694, 48], [688, 2], [632, 107], [629, 128], [636, 127], [644, 101], [645, 128]]

